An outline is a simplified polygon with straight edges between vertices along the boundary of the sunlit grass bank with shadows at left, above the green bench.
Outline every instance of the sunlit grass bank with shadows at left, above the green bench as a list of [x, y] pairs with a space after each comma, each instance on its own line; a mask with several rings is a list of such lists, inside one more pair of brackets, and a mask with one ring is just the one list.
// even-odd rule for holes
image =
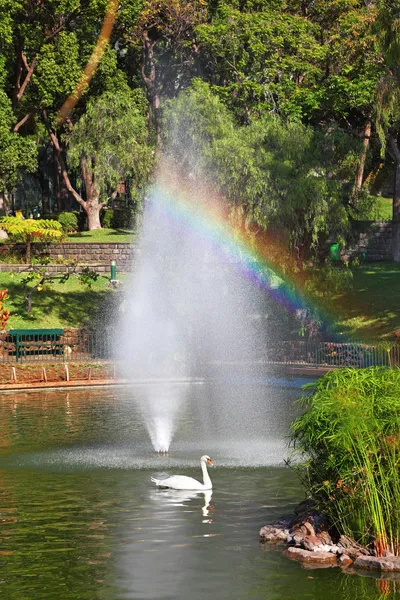
[[[121, 276], [121, 279], [123, 276]], [[9, 329], [82, 327], [110, 324], [118, 312], [119, 290], [108, 287], [109, 276], [99, 276], [88, 288], [77, 278], [54, 283], [33, 295], [32, 312], [27, 314], [20, 277], [0, 273], [0, 289], [8, 289], [7, 308], [11, 313]]]

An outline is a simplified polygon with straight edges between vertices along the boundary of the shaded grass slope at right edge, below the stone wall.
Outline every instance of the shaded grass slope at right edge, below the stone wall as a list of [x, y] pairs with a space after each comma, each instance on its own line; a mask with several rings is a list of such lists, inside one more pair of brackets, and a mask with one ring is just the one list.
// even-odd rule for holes
[[332, 297], [343, 338], [393, 340], [400, 329], [400, 265], [373, 263], [355, 267], [353, 289]]

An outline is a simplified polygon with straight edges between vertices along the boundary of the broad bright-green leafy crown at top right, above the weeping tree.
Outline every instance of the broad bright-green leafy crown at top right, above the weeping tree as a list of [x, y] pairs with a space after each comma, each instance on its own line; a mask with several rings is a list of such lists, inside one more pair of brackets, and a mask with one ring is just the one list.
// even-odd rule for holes
[[235, 114], [279, 112], [296, 118], [368, 113], [381, 65], [363, 2], [230, 2], [200, 25], [206, 77]]

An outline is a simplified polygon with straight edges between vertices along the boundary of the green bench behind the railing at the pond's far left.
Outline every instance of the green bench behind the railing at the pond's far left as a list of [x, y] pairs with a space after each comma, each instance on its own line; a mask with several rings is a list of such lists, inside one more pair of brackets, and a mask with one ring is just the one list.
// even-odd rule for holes
[[8, 336], [17, 361], [27, 356], [64, 354], [64, 329], [11, 329]]

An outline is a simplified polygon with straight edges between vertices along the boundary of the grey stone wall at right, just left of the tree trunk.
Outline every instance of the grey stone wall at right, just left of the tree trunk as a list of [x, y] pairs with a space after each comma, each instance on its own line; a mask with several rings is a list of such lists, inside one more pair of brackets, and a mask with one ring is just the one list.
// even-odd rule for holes
[[342, 250], [342, 257], [361, 257], [365, 252], [368, 262], [392, 260], [391, 221], [354, 221], [352, 234]]

